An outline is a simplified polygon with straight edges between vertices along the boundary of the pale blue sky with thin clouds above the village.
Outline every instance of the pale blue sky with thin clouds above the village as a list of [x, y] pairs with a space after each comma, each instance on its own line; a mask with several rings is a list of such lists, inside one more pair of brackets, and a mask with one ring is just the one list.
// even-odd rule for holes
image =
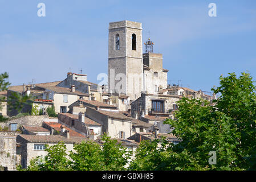
[[[46, 16], [38, 17], [38, 3]], [[217, 17], [208, 15], [216, 3]], [[67, 72], [99, 83], [107, 73], [108, 23], [143, 24], [168, 82], [210, 91], [221, 74], [249, 71], [256, 80], [256, 1], [0, 0], [0, 73], [12, 85], [60, 81]]]

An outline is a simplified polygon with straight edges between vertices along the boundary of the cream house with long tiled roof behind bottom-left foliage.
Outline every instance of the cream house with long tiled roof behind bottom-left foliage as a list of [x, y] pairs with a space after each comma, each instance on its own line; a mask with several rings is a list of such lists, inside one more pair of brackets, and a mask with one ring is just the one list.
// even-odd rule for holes
[[[64, 142], [69, 151], [74, 151], [74, 144], [88, 140], [84, 137], [70, 137], [69, 131], [66, 130], [66, 137], [61, 135], [18, 135], [17, 142], [21, 144], [21, 166], [27, 168], [32, 158], [36, 156], [46, 156], [47, 151], [44, 151], [45, 144], [52, 146], [59, 142]], [[69, 158], [67, 156], [67, 158]]]

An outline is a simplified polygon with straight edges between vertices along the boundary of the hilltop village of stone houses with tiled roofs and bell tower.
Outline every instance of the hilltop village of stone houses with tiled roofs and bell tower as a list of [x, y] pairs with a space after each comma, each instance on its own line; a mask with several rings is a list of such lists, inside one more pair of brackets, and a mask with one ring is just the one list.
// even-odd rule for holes
[[[168, 69], [163, 68], [161, 53], [153, 52], [148, 39], [143, 53], [142, 25], [124, 20], [109, 23], [108, 85], [87, 81], [87, 75], [68, 72], [63, 80], [40, 84], [10, 86], [0, 92], [5, 97], [0, 115], [0, 166], [15, 170], [27, 168], [32, 158], [46, 155], [44, 144], [63, 141], [68, 150], [83, 140], [100, 142], [107, 133], [128, 150], [136, 151], [142, 140], [164, 136], [169, 142], [181, 139], [163, 122], [175, 119], [177, 101], [182, 97], [215, 99], [201, 90], [168, 85]], [[30, 96], [32, 105], [21, 113], [38, 110], [40, 115], [21, 115], [10, 109], [7, 98], [13, 93]], [[47, 113], [54, 107], [55, 117]]]

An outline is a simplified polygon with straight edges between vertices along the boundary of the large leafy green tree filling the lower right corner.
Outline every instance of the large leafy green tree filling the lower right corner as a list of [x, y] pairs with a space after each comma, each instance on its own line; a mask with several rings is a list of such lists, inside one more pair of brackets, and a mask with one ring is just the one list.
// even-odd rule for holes
[[[155, 142], [142, 143], [131, 169], [255, 170], [256, 92], [252, 77], [229, 73], [221, 76], [220, 86], [212, 90], [221, 96], [212, 103], [184, 97], [178, 101], [176, 119], [164, 122], [174, 127], [172, 133], [182, 142], [159, 152]], [[210, 151], [216, 152], [216, 164], [209, 163]]]

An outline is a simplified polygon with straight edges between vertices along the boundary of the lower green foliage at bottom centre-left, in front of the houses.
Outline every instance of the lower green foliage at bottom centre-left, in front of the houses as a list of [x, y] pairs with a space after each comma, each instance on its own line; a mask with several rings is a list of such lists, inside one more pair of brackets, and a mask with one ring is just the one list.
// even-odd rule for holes
[[[45, 160], [37, 156], [30, 161], [29, 171], [61, 171], [61, 170], [125, 170], [124, 166], [128, 163], [131, 152], [117, 143], [117, 140], [110, 139], [107, 134], [102, 135], [103, 144], [86, 141], [76, 144], [75, 151], [66, 153], [64, 143], [54, 146], [46, 146], [48, 152]], [[70, 156], [70, 159], [67, 159]], [[21, 169], [21, 168], [19, 168]]]

